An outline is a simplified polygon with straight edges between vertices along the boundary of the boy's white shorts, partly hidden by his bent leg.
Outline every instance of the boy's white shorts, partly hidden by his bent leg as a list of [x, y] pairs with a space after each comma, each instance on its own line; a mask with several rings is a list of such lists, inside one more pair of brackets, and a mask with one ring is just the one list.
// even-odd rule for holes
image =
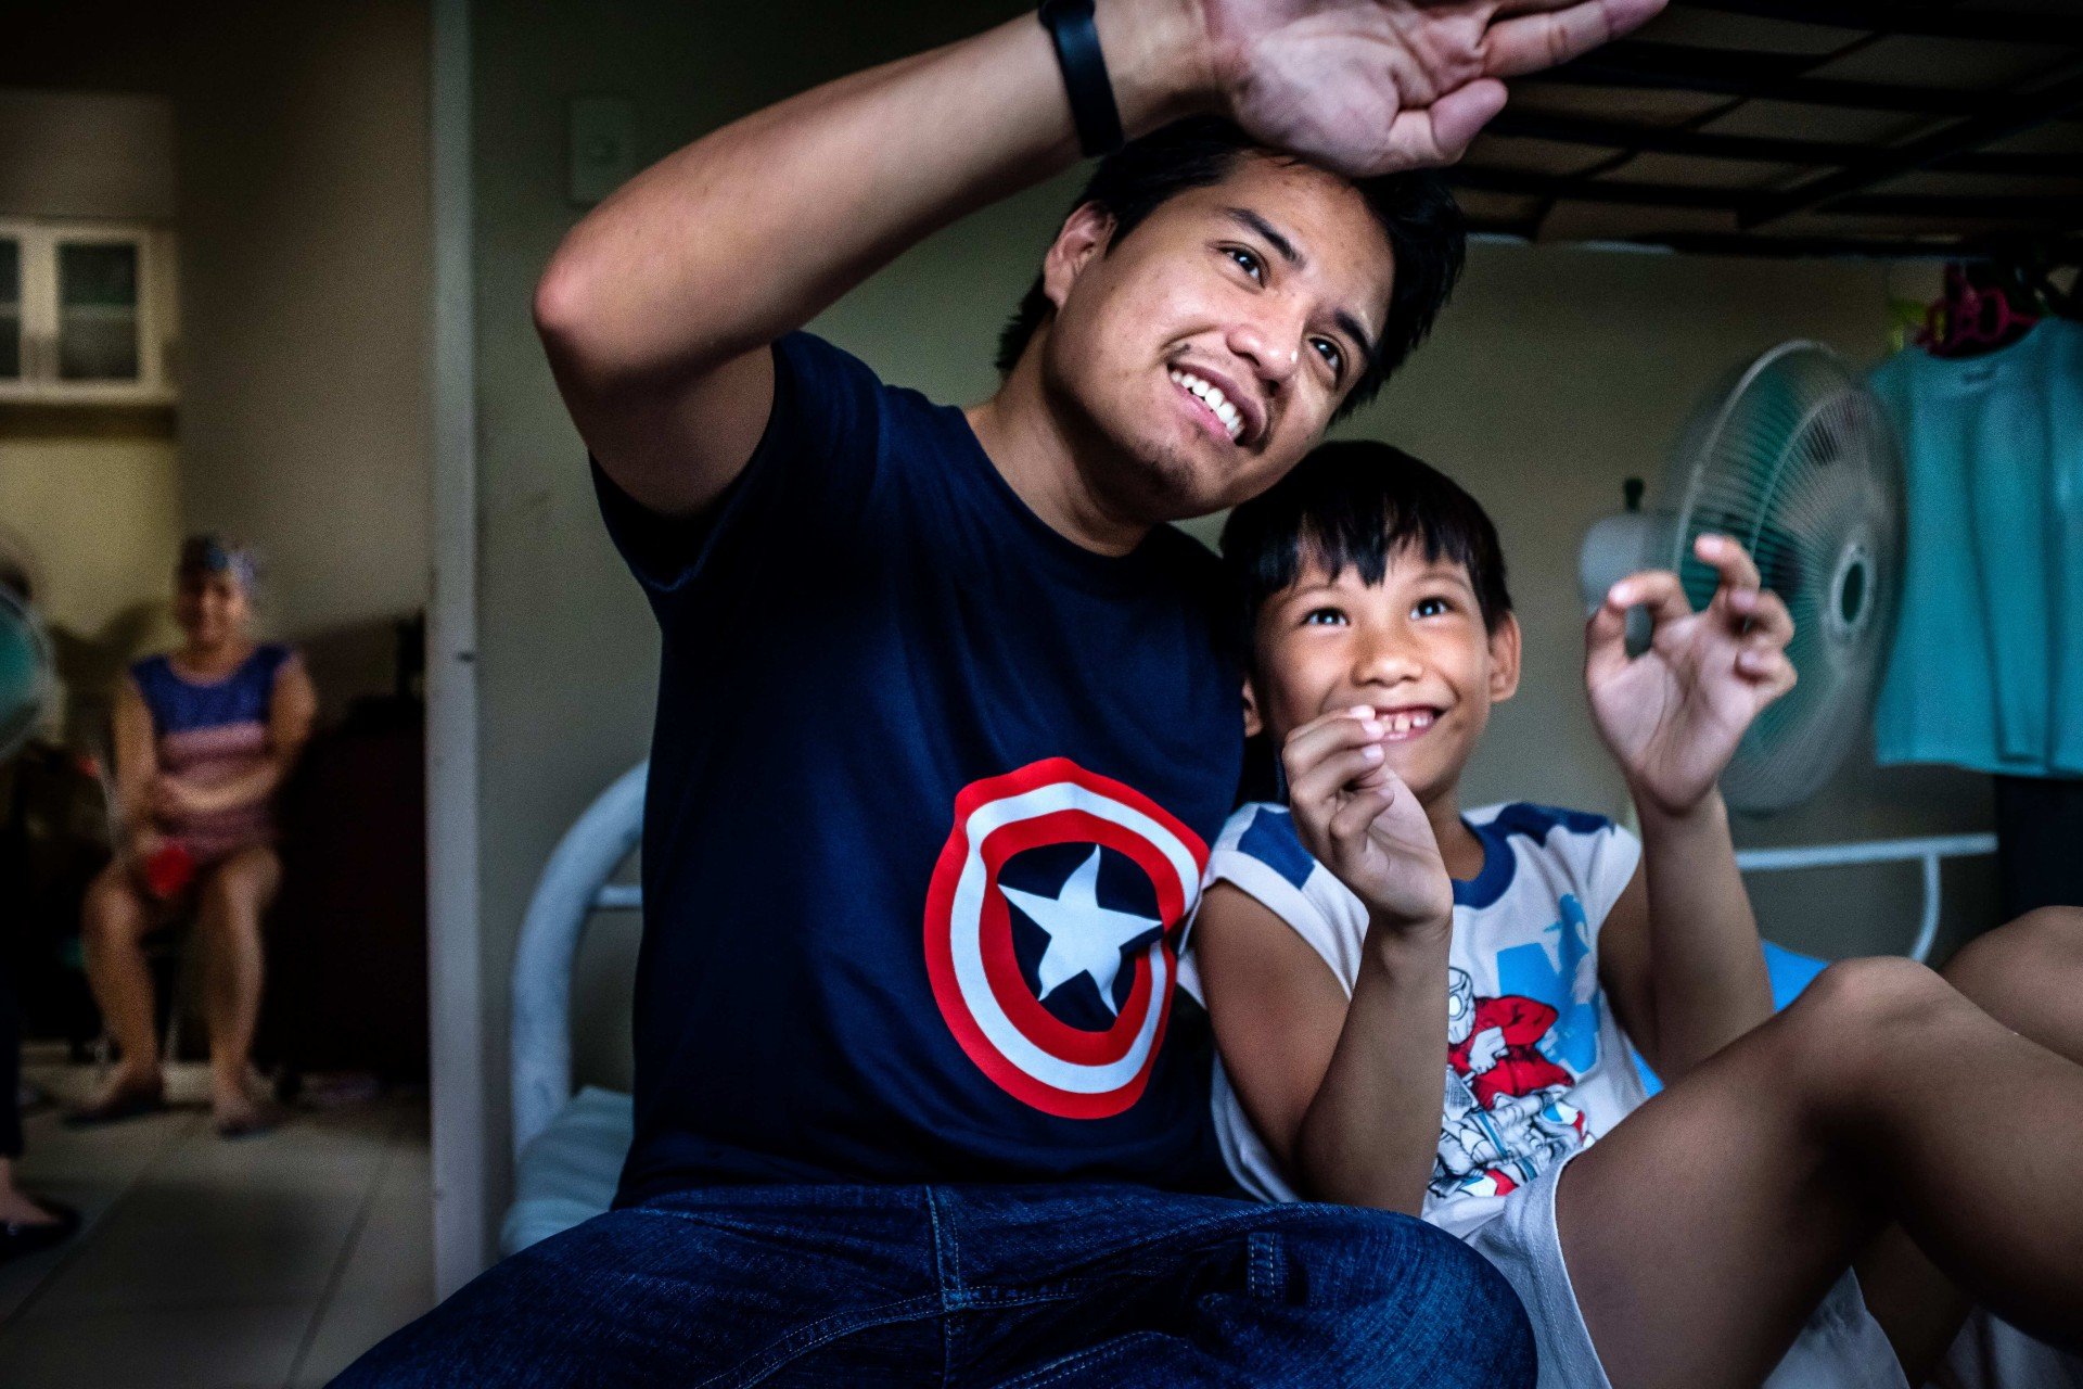
[[[1504, 1210], [1469, 1235], [1469, 1247], [1496, 1264], [1527, 1304], [1541, 1356], [1539, 1389], [1612, 1389], [1577, 1310], [1556, 1235], [1556, 1181], [1564, 1166], [1566, 1160], [1512, 1191]], [[1910, 1389], [1850, 1270], [1823, 1297], [1764, 1389]]]

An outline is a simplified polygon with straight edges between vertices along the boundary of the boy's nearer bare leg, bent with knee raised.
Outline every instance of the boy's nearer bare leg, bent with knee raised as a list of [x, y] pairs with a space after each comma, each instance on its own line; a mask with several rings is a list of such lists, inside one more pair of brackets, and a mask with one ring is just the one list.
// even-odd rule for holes
[[1758, 1385], [1891, 1218], [2021, 1327], [2083, 1324], [2079, 1137], [2083, 1066], [1852, 960], [1577, 1158], [1556, 1222], [1616, 1389]]

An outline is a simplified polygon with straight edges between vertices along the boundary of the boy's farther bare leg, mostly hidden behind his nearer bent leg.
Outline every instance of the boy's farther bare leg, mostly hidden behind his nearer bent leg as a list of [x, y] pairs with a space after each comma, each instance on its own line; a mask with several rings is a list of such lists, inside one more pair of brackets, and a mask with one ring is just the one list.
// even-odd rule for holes
[[[2083, 910], [2027, 912], [1968, 941], [1939, 973], [2010, 1031], [2083, 1064]], [[1889, 1227], [1858, 1256], [1858, 1285], [1904, 1374], [1925, 1383], [1973, 1302], [1902, 1227]]]

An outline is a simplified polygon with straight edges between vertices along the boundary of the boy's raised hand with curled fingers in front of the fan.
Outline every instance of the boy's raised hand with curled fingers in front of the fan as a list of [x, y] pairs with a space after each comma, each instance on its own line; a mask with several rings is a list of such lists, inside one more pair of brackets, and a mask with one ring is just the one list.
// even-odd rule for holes
[[[1612, 585], [1585, 629], [1585, 689], [1600, 737], [1621, 762], [1637, 802], [1666, 814], [1693, 810], [1729, 766], [1750, 721], [1793, 689], [1793, 616], [1760, 587], [1758, 566], [1735, 539], [1702, 535], [1693, 554], [1721, 573], [1702, 612], [1671, 571]], [[1627, 654], [1627, 610], [1646, 606], [1656, 633]]]

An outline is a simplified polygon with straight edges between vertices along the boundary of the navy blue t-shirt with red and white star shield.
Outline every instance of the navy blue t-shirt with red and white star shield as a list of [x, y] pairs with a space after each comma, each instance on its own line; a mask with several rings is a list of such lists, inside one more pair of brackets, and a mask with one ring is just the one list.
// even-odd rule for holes
[[1173, 987], [1241, 760], [1214, 556], [1079, 548], [960, 410], [804, 333], [706, 516], [596, 483], [664, 641], [619, 1202], [1227, 1187]]

